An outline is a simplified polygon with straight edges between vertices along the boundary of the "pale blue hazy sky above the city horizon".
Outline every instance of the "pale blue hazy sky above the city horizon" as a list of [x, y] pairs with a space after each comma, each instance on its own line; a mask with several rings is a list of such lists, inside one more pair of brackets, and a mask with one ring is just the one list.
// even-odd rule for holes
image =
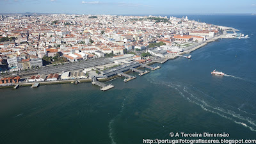
[[0, 0], [0, 13], [171, 15], [256, 13], [256, 0]]

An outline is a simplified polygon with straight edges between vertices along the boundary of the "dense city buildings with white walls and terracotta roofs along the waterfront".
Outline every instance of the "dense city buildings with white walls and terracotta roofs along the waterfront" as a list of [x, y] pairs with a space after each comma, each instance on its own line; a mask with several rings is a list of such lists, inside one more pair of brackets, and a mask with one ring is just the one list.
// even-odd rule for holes
[[[109, 63], [125, 65], [132, 61], [145, 63], [152, 56], [170, 58], [221, 33], [220, 26], [188, 17], [3, 15], [0, 19], [1, 73], [30, 74], [29, 82], [86, 78], [90, 74], [84, 68]], [[113, 56], [111, 60], [102, 59]], [[8, 76], [15, 79], [16, 73], [12, 74]], [[99, 72], [93, 76], [97, 74]], [[6, 80], [3, 83], [7, 83]]]

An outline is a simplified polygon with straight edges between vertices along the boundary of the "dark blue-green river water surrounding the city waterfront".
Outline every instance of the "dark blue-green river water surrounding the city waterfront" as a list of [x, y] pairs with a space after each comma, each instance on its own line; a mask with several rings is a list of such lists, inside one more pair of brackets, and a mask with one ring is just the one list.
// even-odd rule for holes
[[[186, 15], [185, 15], [186, 16]], [[142, 143], [170, 132], [256, 136], [255, 16], [188, 16], [230, 26], [248, 39], [220, 39], [137, 79], [1, 89], [0, 143]], [[251, 35], [252, 34], [252, 35]], [[253, 35], [254, 34], [254, 35]], [[212, 76], [212, 70], [228, 76]]]

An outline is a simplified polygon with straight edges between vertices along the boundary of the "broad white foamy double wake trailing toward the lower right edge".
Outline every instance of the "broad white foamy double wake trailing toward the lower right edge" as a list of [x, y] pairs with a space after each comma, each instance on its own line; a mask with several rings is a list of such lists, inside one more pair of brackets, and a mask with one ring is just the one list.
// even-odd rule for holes
[[156, 82], [150, 80], [150, 83], [154, 84], [163, 84], [166, 86], [170, 86], [177, 90], [184, 99], [192, 102], [198, 106], [200, 106], [205, 111], [209, 111], [211, 113], [220, 115], [223, 118], [227, 118], [228, 120], [232, 120], [236, 124], [243, 125], [247, 127], [251, 131], [256, 131], [256, 117], [253, 113], [248, 113], [247, 111], [241, 111], [239, 108], [235, 108], [234, 106], [230, 106], [221, 102], [220, 100], [216, 100], [210, 95], [205, 94], [204, 92], [193, 88], [193, 86], [184, 86], [184, 84], [174, 84], [174, 83], [164, 83], [164, 82]]

